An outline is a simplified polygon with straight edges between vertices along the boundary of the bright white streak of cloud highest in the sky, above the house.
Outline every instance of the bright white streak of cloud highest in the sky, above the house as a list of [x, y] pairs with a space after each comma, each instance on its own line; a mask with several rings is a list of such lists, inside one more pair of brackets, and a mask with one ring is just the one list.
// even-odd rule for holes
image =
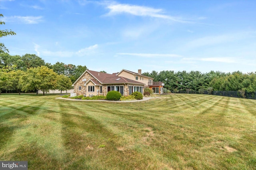
[[168, 16], [163, 14], [164, 10], [150, 8], [146, 6], [136, 6], [136, 5], [129, 5], [129, 4], [108, 4], [107, 8], [110, 10], [106, 15], [117, 15], [117, 14], [131, 14], [134, 16], [146, 16], [152, 18], [162, 18], [167, 20], [172, 20], [181, 23], [191, 23], [191, 21], [184, 20], [180, 17]]

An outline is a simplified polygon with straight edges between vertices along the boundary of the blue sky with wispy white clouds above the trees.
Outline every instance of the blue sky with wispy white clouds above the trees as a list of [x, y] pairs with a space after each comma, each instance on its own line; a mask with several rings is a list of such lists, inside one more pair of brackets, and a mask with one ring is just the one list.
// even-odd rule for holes
[[108, 73], [256, 71], [256, 0], [0, 0], [10, 55]]

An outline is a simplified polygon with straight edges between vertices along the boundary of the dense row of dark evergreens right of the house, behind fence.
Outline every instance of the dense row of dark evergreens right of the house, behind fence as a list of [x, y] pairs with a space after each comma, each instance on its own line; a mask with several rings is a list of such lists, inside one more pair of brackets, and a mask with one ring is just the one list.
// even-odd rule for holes
[[154, 78], [154, 81], [164, 82], [164, 88], [171, 91], [194, 90], [199, 92], [207, 91], [256, 91], [256, 72], [242, 73], [210, 71], [178, 71], [164, 70], [159, 73], [153, 70], [151, 73], [142, 73], [145, 76]]

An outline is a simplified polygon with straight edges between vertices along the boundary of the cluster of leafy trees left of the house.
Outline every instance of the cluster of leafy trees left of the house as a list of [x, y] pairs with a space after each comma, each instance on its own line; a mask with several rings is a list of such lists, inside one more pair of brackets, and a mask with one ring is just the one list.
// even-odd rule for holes
[[72, 84], [87, 69], [86, 66], [45, 63], [35, 54], [10, 55], [0, 43], [0, 94], [1, 92], [48, 92], [72, 89]]

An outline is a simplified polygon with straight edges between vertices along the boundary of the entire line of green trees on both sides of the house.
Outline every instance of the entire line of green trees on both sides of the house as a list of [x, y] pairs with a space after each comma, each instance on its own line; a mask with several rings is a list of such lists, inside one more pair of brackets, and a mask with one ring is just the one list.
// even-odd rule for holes
[[[68, 90], [71, 85], [87, 69], [86, 66], [45, 63], [35, 54], [10, 55], [4, 44], [0, 43], [0, 92], [38, 92], [42, 90]], [[105, 72], [105, 71], [102, 71]], [[178, 71], [163, 70], [142, 73], [164, 82], [170, 91], [256, 91], [256, 72], [242, 73], [210, 71]]]

